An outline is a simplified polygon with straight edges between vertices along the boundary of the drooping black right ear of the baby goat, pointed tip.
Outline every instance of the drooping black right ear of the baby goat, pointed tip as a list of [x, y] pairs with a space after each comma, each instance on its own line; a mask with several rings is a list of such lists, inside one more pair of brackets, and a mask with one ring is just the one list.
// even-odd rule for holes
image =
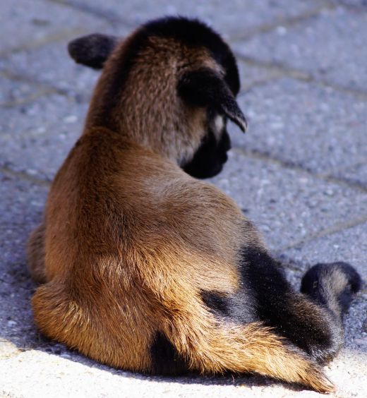
[[244, 132], [247, 121], [227, 83], [215, 71], [202, 68], [186, 72], [177, 85], [180, 97], [198, 107], [214, 107]]

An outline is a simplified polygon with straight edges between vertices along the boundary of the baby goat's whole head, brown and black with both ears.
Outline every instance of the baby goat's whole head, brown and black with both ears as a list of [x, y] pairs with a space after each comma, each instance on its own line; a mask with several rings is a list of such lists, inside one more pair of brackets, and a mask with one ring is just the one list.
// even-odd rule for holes
[[227, 120], [246, 130], [236, 102], [239, 72], [222, 38], [198, 20], [162, 18], [125, 40], [94, 34], [68, 45], [79, 64], [102, 69], [87, 128], [104, 126], [198, 178], [222, 170]]

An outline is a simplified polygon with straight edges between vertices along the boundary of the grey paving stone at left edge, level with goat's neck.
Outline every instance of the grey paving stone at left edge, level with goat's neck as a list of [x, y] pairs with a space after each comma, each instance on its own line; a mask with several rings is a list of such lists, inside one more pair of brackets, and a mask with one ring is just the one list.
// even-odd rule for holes
[[52, 179], [82, 132], [87, 107], [49, 95], [6, 109], [0, 121], [0, 165]]

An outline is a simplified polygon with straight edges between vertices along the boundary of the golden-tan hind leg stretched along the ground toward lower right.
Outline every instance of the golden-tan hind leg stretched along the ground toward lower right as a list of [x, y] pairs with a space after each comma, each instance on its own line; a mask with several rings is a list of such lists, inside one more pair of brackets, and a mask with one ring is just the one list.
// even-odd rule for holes
[[191, 370], [255, 372], [318, 392], [333, 390], [317, 363], [260, 322], [217, 320], [203, 303], [186, 297], [169, 305], [175, 310], [162, 322], [162, 332]]

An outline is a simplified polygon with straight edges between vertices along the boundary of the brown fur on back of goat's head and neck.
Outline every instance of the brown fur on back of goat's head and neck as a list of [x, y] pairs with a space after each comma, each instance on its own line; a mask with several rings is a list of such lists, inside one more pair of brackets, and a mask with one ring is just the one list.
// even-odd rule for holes
[[[134, 35], [131, 36], [133, 38]], [[207, 66], [218, 73], [222, 68], [207, 54], [205, 48], [193, 50], [172, 39], [152, 37], [131, 70], [124, 96], [112, 109], [106, 101], [111, 79], [121, 73], [121, 59], [129, 47], [126, 39], [104, 66], [88, 111], [87, 126], [108, 126], [126, 138], [149, 147], [174, 161], [192, 157], [203, 135], [205, 109], [190, 107], [176, 94], [179, 78], [188, 70]], [[148, 66], [148, 67], [147, 67]], [[152, 78], [152, 76], [159, 76]], [[108, 109], [105, 109], [106, 103]], [[102, 122], [101, 120], [102, 119]]]

